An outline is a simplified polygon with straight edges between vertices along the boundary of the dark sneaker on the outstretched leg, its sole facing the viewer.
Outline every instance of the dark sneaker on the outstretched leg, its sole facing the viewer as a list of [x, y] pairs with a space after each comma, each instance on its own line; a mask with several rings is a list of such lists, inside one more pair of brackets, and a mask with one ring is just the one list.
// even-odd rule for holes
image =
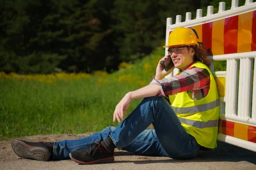
[[13, 140], [12, 149], [18, 156], [24, 159], [48, 161], [52, 155], [53, 142], [26, 142]]

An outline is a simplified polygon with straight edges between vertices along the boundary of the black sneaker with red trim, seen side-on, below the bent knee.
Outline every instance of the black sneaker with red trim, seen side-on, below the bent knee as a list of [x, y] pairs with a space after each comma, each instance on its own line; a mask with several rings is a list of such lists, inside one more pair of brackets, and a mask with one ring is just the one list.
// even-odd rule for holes
[[84, 150], [76, 150], [69, 154], [79, 164], [100, 164], [114, 161], [114, 150], [107, 152], [99, 142]]

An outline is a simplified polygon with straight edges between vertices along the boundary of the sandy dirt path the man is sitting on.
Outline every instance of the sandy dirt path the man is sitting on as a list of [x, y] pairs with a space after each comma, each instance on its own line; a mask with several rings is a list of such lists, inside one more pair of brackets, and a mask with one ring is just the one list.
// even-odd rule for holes
[[[92, 133], [78, 135], [25, 136], [22, 140], [60, 141], [78, 139]], [[137, 156], [123, 150], [116, 150], [112, 164], [79, 165], [71, 160], [34, 161], [18, 157], [12, 150], [11, 141], [0, 141], [0, 170], [256, 170], [256, 153], [224, 142], [210, 152], [200, 151], [192, 160], [174, 160], [168, 157]]]

